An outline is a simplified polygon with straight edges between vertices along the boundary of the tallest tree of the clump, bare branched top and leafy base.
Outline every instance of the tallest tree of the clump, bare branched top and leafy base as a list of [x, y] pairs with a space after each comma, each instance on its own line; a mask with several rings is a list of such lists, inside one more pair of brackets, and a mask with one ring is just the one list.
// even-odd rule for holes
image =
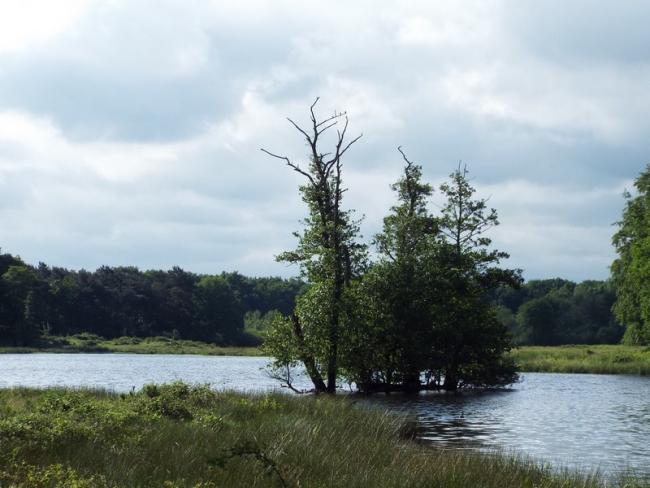
[[[310, 285], [300, 297], [290, 318], [275, 322], [276, 331], [269, 333], [267, 350], [276, 358], [276, 370], [287, 370], [288, 364], [300, 360], [318, 392], [334, 393], [342, 356], [341, 337], [345, 334], [346, 296], [358, 276], [365, 258], [365, 247], [357, 242], [358, 224], [350, 211], [342, 206], [346, 189], [342, 178], [342, 157], [359, 140], [347, 139], [348, 118], [334, 113], [319, 120], [310, 107], [310, 126], [303, 129], [289, 122], [304, 137], [309, 148], [309, 161], [299, 165], [286, 156], [262, 149], [283, 160], [305, 179], [299, 190], [307, 205], [305, 227], [294, 251], [282, 253], [279, 261], [300, 265], [302, 276]], [[334, 147], [324, 153], [320, 149], [324, 134], [343, 122], [336, 131]], [[285, 378], [288, 381], [288, 378]]]

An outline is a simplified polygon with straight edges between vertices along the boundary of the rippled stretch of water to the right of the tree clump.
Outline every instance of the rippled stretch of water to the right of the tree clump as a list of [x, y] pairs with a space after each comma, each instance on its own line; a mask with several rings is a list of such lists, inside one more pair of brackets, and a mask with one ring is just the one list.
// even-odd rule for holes
[[650, 477], [650, 378], [529, 373], [505, 391], [382, 401], [415, 415], [437, 445]]

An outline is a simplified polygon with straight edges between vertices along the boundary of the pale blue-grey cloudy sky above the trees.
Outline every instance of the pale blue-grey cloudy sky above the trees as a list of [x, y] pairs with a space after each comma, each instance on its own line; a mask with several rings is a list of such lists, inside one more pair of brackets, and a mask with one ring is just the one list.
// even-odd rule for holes
[[347, 204], [369, 239], [403, 145], [462, 160], [525, 277], [605, 278], [650, 162], [642, 0], [0, 1], [0, 246], [94, 269], [296, 273], [305, 211], [284, 117], [347, 110]]

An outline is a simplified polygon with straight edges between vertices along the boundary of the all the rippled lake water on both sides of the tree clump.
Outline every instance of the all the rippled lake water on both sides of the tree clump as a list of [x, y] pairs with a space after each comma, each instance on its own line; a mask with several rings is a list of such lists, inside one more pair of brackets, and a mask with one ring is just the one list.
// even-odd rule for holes
[[[277, 388], [264, 358], [129, 354], [0, 355], [0, 388], [102, 387], [184, 380], [245, 391]], [[606, 474], [650, 477], [650, 378], [529, 373], [511, 390], [377, 398], [417, 416], [422, 438], [502, 449]]]

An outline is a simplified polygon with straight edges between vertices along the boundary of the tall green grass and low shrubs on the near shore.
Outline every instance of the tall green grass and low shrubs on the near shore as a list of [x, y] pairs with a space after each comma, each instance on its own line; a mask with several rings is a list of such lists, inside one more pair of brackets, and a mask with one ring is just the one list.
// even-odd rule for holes
[[527, 460], [420, 445], [407, 419], [353, 403], [182, 383], [129, 395], [4, 390], [0, 486], [604, 485]]

